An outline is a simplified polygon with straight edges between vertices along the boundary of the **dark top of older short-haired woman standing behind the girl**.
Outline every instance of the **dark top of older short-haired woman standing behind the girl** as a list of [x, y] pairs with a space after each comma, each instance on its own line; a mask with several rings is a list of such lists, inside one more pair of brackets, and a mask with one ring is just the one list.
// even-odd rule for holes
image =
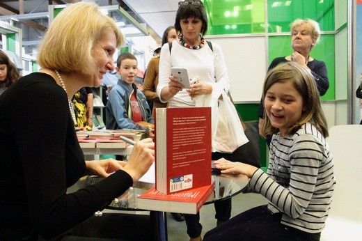
[[[285, 57], [278, 57], [273, 59], [272, 63], [270, 63], [269, 70], [272, 70], [279, 63], [288, 62]], [[317, 84], [317, 89], [320, 92], [320, 96], [323, 96], [329, 88], [329, 80], [328, 75], [326, 73], [326, 64], [323, 61], [317, 61], [317, 59], [313, 59], [307, 63], [308, 68], [310, 69], [310, 73], [313, 75], [315, 84]], [[263, 102], [260, 100], [260, 106], [258, 110], [258, 116], [260, 118], [264, 118], [264, 107]]]

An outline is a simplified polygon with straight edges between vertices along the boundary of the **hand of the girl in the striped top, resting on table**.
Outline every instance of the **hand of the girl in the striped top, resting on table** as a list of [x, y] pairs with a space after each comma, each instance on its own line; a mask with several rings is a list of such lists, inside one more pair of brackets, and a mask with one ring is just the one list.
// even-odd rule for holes
[[217, 169], [221, 169], [221, 173], [223, 174], [244, 174], [248, 176], [248, 178], [251, 178], [253, 173], [258, 170], [258, 167], [242, 162], [230, 162], [224, 158], [214, 161], [214, 164]]

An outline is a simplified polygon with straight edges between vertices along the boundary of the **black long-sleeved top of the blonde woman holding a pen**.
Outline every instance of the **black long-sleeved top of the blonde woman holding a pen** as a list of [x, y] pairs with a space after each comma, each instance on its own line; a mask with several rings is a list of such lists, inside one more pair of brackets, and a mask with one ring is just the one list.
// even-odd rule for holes
[[132, 186], [132, 178], [117, 171], [66, 194], [86, 170], [68, 108], [63, 88], [40, 72], [0, 96], [0, 240], [32, 229], [52, 238]]

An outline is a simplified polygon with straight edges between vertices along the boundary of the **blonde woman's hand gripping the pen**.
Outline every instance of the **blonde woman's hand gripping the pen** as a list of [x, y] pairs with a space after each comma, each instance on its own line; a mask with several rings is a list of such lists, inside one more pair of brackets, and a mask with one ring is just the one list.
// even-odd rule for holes
[[134, 144], [131, 156], [123, 167], [123, 171], [126, 171], [135, 182], [150, 169], [153, 162], [155, 162], [155, 143], [150, 138], [143, 139]]

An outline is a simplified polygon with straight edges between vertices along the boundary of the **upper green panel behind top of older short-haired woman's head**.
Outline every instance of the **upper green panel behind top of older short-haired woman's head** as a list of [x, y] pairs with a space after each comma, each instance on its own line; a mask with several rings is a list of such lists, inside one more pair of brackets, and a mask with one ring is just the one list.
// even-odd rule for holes
[[269, 33], [289, 32], [297, 18], [310, 18], [322, 31], [334, 31], [334, 0], [268, 0], [267, 6]]

